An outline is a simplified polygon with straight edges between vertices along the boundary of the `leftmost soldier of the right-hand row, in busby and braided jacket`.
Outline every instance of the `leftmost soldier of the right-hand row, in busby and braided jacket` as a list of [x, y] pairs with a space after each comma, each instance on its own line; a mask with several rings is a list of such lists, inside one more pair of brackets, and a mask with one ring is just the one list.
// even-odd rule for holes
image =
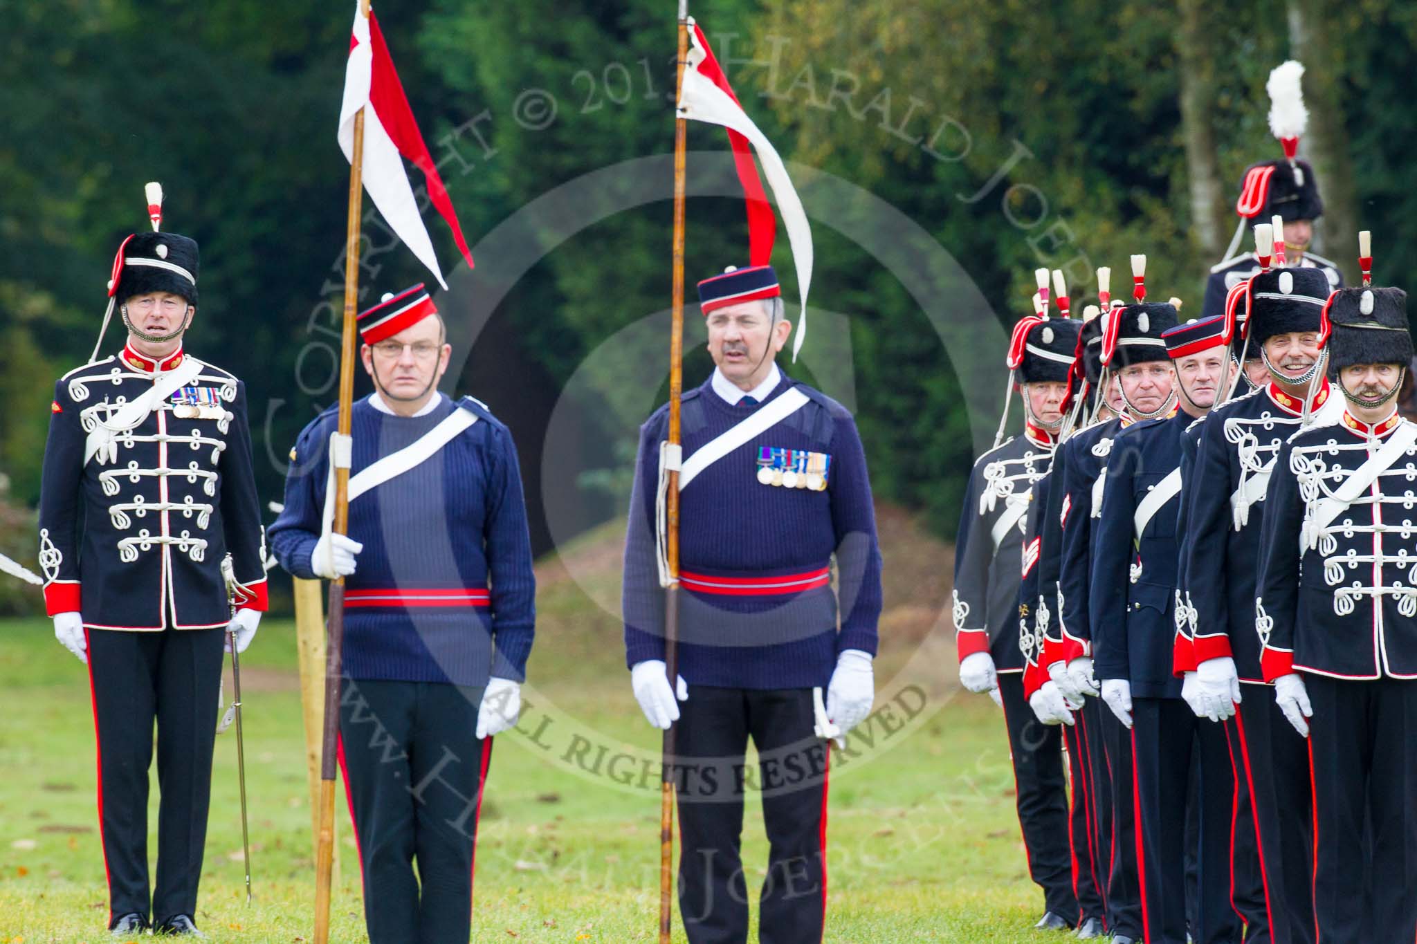
[[1040, 928], [1078, 920], [1068, 853], [1063, 739], [1023, 695], [1019, 590], [1023, 531], [1034, 483], [1047, 473], [1077, 347], [1077, 321], [1030, 316], [1015, 326], [1010, 384], [1023, 395], [1024, 432], [975, 461], [955, 542], [954, 621], [959, 682], [1003, 706], [1013, 753], [1029, 872], [1044, 896]]

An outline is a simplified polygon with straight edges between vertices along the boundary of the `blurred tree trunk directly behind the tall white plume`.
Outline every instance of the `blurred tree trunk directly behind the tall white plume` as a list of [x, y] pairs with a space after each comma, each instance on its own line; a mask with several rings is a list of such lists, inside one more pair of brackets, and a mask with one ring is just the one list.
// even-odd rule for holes
[[1323, 0], [1288, 0], [1289, 50], [1304, 64], [1304, 98], [1309, 132], [1301, 147], [1314, 164], [1323, 197], [1322, 226], [1315, 228], [1314, 251], [1333, 259], [1343, 280], [1357, 280], [1357, 198], [1353, 161], [1343, 125], [1340, 74], [1343, 51], [1338, 23]]

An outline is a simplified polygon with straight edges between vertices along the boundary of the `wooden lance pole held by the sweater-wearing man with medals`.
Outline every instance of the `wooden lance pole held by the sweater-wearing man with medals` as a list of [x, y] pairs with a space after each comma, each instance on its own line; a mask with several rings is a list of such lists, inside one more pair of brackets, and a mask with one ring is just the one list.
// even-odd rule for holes
[[[689, 58], [689, 0], [679, 0], [679, 58], [674, 75], [674, 102], [684, 86], [684, 64]], [[686, 126], [683, 115], [674, 116], [674, 246], [673, 289], [670, 301], [672, 327], [669, 333], [669, 447], [679, 450], [679, 406], [684, 388], [684, 150]], [[666, 495], [665, 552], [669, 559], [669, 586], [665, 587], [665, 667], [669, 691], [677, 695], [679, 679], [679, 468], [669, 470]], [[659, 787], [659, 944], [669, 944], [673, 917], [674, 889], [674, 726], [665, 732], [660, 759]]]

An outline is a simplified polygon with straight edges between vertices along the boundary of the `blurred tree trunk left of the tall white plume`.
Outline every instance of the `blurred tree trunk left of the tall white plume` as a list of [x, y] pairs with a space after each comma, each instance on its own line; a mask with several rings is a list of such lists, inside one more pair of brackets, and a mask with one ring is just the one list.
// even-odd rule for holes
[[1180, 129], [1186, 142], [1192, 239], [1207, 260], [1220, 260], [1229, 231], [1216, 133], [1210, 115], [1216, 100], [1214, 61], [1210, 58], [1209, 0], [1180, 0], [1176, 52], [1180, 58]]

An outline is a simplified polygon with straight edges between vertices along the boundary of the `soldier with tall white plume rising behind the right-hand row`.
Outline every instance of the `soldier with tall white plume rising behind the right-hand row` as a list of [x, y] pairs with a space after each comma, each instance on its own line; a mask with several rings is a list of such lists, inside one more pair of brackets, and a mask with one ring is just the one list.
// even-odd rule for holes
[[1231, 255], [1253, 224], [1280, 221], [1281, 229], [1274, 231], [1271, 238], [1274, 243], [1282, 246], [1287, 263], [1319, 270], [1332, 289], [1343, 284], [1338, 265], [1309, 252], [1314, 221], [1323, 215], [1323, 200], [1319, 197], [1319, 181], [1314, 175], [1314, 168], [1297, 157], [1299, 137], [1308, 123], [1308, 112], [1304, 110], [1299, 93], [1302, 74], [1304, 67], [1291, 61], [1270, 75], [1270, 127], [1284, 147], [1284, 157], [1246, 168], [1240, 181], [1240, 197], [1236, 200], [1240, 225], [1230, 243], [1230, 252], [1226, 253], [1227, 258], [1210, 267], [1202, 317], [1224, 314], [1226, 293], [1264, 267], [1257, 253]]

